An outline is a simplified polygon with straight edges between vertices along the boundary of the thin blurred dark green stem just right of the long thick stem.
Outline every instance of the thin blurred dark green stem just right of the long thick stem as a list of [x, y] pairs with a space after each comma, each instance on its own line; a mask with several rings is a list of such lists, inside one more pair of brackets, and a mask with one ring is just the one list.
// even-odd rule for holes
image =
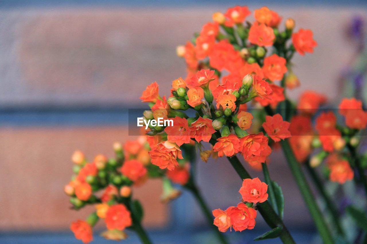
[[337, 207], [335, 206], [331, 197], [326, 192], [323, 182], [321, 181], [319, 175], [317, 175], [317, 172], [310, 166], [309, 162], [306, 162], [305, 164], [306, 164], [306, 169], [310, 177], [312, 178], [313, 182], [315, 183], [317, 190], [319, 191], [320, 195], [323, 197], [323, 200], [326, 203], [328, 210], [330, 211], [331, 217], [333, 218], [333, 222], [334, 222], [335, 227], [337, 228], [338, 233], [341, 234], [342, 236], [345, 236], [344, 230], [340, 223], [340, 219], [339, 219], [340, 213]]

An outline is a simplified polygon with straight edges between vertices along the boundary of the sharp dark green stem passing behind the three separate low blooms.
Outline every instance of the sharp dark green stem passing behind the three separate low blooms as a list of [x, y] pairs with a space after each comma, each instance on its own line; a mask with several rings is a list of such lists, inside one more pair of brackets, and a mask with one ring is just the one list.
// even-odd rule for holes
[[[237, 156], [233, 156], [232, 158], [227, 157], [229, 162], [232, 164], [233, 168], [236, 170], [237, 174], [240, 176], [241, 180], [251, 178], [251, 175], [248, 174], [247, 170], [243, 167], [240, 160]], [[283, 221], [276, 214], [272, 206], [269, 204], [269, 201], [265, 201], [263, 203], [258, 204], [258, 210], [265, 222], [270, 226], [270, 228], [274, 229], [278, 226], [282, 227], [282, 232], [280, 233], [280, 240], [283, 243], [295, 243], [293, 237], [289, 233], [287, 227], [284, 225]]]

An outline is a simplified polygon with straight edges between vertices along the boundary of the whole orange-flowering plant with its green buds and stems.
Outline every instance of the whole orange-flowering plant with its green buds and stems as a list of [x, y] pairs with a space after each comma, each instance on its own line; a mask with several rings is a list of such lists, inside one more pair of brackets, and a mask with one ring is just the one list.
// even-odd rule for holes
[[[148, 85], [140, 97], [150, 107], [150, 110], [143, 113], [146, 121], [170, 118], [173, 125], [149, 125], [143, 139], [149, 155], [146, 163], [134, 158], [138, 155], [137, 152], [131, 153], [129, 160], [118, 158], [119, 160], [114, 161], [117, 163], [110, 168], [112, 171], [107, 171], [106, 177], [119, 177], [119, 182], [115, 182], [113, 177], [112, 184], [120, 188], [120, 193], [116, 188], [116, 194], [108, 201], [94, 195], [91, 197], [92, 189], [109, 187], [108, 183], [111, 182], [106, 180], [105, 184], [98, 183], [95, 188], [92, 185], [95, 175], [98, 174], [99, 177], [100, 174], [100, 171], [97, 173], [100, 170], [97, 166], [99, 161], [94, 160], [94, 171], [89, 164], [83, 165], [78, 170], [76, 180], [68, 185], [70, 192], [67, 193], [73, 196], [72, 203], [76, 208], [80, 206], [75, 201], [81, 202], [81, 205], [101, 201], [108, 209], [108, 229], [116, 232], [129, 226], [133, 229], [139, 227], [139, 211], [133, 211], [136, 206], [132, 205], [130, 195], [123, 196], [121, 191], [132, 183], [141, 181], [148, 172], [150, 176], [163, 178], [164, 188], [170, 189], [171, 193], [171, 182], [190, 190], [196, 196], [208, 221], [211, 225], [214, 223], [222, 243], [226, 243], [226, 240], [219, 232], [226, 232], [228, 229], [240, 232], [253, 229], [258, 212], [271, 230], [255, 240], [280, 237], [283, 243], [294, 243], [283, 223], [284, 197], [281, 187], [271, 180], [267, 167], [267, 159], [272, 150], [280, 146], [324, 243], [334, 243], [336, 235], [330, 231], [330, 226], [315, 201], [302, 171], [302, 164], [319, 189], [338, 236], [344, 240], [350, 238], [346, 236], [337, 208], [315, 167], [326, 159], [326, 175], [330, 181], [343, 184], [355, 179], [357, 184], [364, 186], [367, 193], [364, 174], [366, 164], [363, 164], [366, 157], [357, 151], [360, 143], [357, 136], [366, 128], [367, 113], [363, 110], [361, 101], [343, 99], [339, 105], [339, 114], [345, 117], [343, 125], [337, 123], [333, 111], [319, 112], [321, 104], [326, 102], [326, 97], [322, 94], [306, 91], [302, 93], [298, 104], [290, 101], [286, 90], [294, 89], [300, 84], [292, 72], [291, 59], [296, 52], [300, 55], [313, 52], [317, 43], [313, 40], [312, 31], [299, 29], [294, 32], [293, 19], [286, 19], [285, 28], [280, 28], [281, 16], [267, 7], [254, 11], [253, 22], [246, 21], [250, 14], [246, 6], [228, 8], [224, 14], [216, 12], [213, 14], [213, 22], [206, 23], [191, 41], [177, 48], [178, 56], [185, 59], [187, 77], [172, 81], [168, 98], [159, 95], [156, 82]], [[251, 107], [256, 109], [250, 110]], [[194, 111], [195, 115], [189, 116], [189, 110]], [[312, 120], [315, 116], [313, 129]], [[210, 149], [204, 148], [204, 142], [211, 145]], [[125, 145], [135, 148], [135, 144], [136, 142], [130, 142]], [[143, 144], [139, 145], [143, 147]], [[229, 160], [242, 181], [239, 189], [242, 196], [240, 203], [226, 210], [215, 209], [210, 216], [193, 179], [195, 167], [192, 166], [195, 160], [192, 155], [195, 148], [200, 151], [200, 158], [204, 162], [210, 156], [225, 156]], [[123, 155], [121, 150], [116, 152]], [[237, 154], [250, 167], [262, 170], [265, 182], [252, 178], [240, 163]], [[107, 159], [104, 161], [110, 162]], [[353, 169], [357, 170], [357, 174]], [[86, 175], [86, 183], [79, 175]], [[100, 178], [98, 182], [101, 182]], [[102, 205], [98, 206], [98, 210], [103, 209]], [[93, 216], [100, 217], [98, 210]], [[367, 219], [363, 212], [353, 206], [348, 206], [348, 212], [360, 228], [366, 228], [365, 224], [361, 224], [363, 218]], [[118, 220], [116, 223], [109, 223], [108, 216]], [[73, 223], [72, 229], [77, 230], [74, 231], [77, 238], [86, 238], [84, 233], [90, 233], [93, 222], [87, 223], [88, 226], [81, 222]]]

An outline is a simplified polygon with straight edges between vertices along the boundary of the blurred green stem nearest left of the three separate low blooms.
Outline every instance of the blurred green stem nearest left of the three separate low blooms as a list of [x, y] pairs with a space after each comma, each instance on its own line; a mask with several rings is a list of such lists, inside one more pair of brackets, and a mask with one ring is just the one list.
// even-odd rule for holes
[[214, 217], [211, 213], [211, 211], [209, 210], [203, 196], [201, 196], [201, 193], [199, 191], [199, 189], [197, 189], [197, 187], [195, 186], [195, 184], [193, 183], [193, 181], [191, 180], [192, 184], [187, 184], [185, 187], [186, 189], [188, 189], [190, 192], [192, 192], [192, 194], [194, 195], [195, 199], [197, 200], [197, 202], [199, 203], [199, 206], [201, 208], [201, 211], [203, 212], [209, 226], [211, 226], [211, 228], [213, 229], [214, 233], [217, 235], [218, 240], [220, 241], [220, 243], [222, 244], [228, 244], [227, 240], [225, 239], [224, 235], [219, 232], [217, 226], [215, 226], [213, 224], [213, 220]]

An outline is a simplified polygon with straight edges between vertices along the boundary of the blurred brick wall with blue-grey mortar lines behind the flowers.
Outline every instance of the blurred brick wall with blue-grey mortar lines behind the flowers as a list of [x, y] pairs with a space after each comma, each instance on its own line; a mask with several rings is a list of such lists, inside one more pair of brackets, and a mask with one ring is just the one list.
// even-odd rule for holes
[[[366, 3], [1, 0], [0, 243], [80, 243], [69, 225], [91, 209], [68, 208], [63, 186], [72, 174], [72, 152], [80, 149], [90, 159], [99, 153], [113, 156], [115, 141], [134, 140], [128, 136], [128, 109], [146, 105], [138, 97], [151, 82], [168, 95], [172, 80], [186, 76], [175, 48], [211, 21], [215, 11], [236, 4], [247, 4], [251, 11], [267, 5], [283, 19], [294, 18], [296, 30], [313, 30], [315, 52], [293, 59], [301, 87], [290, 92], [292, 98], [314, 89], [333, 106], [355, 90], [356, 96], [367, 94]], [[297, 243], [317, 242], [281, 152], [272, 154], [269, 168], [283, 189], [284, 221]], [[239, 202], [241, 182], [225, 159], [200, 162], [198, 171], [211, 209]], [[189, 193], [170, 204], [160, 203], [160, 193], [159, 180], [134, 192], [156, 243], [214, 243]], [[267, 230], [259, 216], [254, 230], [226, 235], [233, 243], [247, 243]], [[97, 234], [95, 243], [112, 242]], [[138, 243], [133, 233], [126, 241]]]

